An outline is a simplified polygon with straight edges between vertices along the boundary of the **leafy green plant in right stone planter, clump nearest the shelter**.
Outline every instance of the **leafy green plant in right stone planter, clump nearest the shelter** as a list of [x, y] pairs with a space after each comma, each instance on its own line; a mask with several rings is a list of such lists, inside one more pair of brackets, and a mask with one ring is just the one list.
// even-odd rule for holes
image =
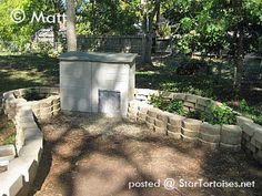
[[178, 101], [178, 100], [168, 100], [164, 97], [163, 94], [160, 95], [151, 95], [150, 96], [150, 103], [159, 107], [163, 111], [168, 111], [171, 113], [178, 113], [178, 114], [183, 114], [183, 102]]

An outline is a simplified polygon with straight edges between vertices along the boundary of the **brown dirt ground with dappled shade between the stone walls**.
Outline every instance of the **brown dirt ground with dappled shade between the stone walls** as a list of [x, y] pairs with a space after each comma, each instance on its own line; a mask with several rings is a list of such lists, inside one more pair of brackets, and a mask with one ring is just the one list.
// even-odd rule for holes
[[[41, 127], [46, 142], [30, 195], [262, 194], [262, 167], [242, 151], [212, 152], [192, 143], [160, 136], [144, 125], [88, 114], [63, 114], [49, 123], [42, 123]], [[165, 178], [173, 178], [174, 186], [171, 186], [173, 182]], [[190, 184], [199, 179], [239, 183], [254, 180], [255, 184], [252, 188], [182, 187], [185, 180]], [[164, 188], [164, 180], [172, 190]], [[160, 187], [129, 188], [135, 182], [137, 186], [145, 185], [145, 182], [155, 183], [155, 186], [160, 183]]]

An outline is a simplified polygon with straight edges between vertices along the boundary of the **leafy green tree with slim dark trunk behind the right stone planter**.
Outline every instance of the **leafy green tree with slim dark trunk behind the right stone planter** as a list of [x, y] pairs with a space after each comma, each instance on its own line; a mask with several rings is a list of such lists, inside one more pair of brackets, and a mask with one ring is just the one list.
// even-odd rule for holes
[[178, 43], [188, 52], [219, 53], [230, 50], [235, 66], [234, 90], [240, 93], [243, 58], [258, 51], [262, 33], [261, 0], [178, 0], [164, 13], [175, 27]]

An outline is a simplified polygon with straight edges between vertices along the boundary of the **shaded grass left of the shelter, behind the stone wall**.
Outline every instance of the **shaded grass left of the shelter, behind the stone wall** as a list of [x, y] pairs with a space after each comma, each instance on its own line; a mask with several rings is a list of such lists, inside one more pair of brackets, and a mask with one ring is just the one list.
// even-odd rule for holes
[[40, 55], [1, 55], [0, 92], [59, 82], [59, 63]]

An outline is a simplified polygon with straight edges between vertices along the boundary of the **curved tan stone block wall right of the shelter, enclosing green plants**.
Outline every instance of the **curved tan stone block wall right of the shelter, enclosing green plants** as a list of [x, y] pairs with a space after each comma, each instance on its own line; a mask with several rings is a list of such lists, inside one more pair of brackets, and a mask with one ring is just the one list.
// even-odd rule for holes
[[[161, 111], [149, 104], [154, 90], [135, 90], [135, 100], [129, 103], [128, 117], [145, 123], [154, 132], [183, 141], [194, 141], [211, 148], [239, 151], [241, 147], [262, 164], [262, 126], [244, 116], [236, 125], [211, 125], [199, 120]], [[205, 111], [210, 104], [221, 105], [211, 99], [185, 93], [165, 93], [164, 99], [181, 100], [187, 111]]]

